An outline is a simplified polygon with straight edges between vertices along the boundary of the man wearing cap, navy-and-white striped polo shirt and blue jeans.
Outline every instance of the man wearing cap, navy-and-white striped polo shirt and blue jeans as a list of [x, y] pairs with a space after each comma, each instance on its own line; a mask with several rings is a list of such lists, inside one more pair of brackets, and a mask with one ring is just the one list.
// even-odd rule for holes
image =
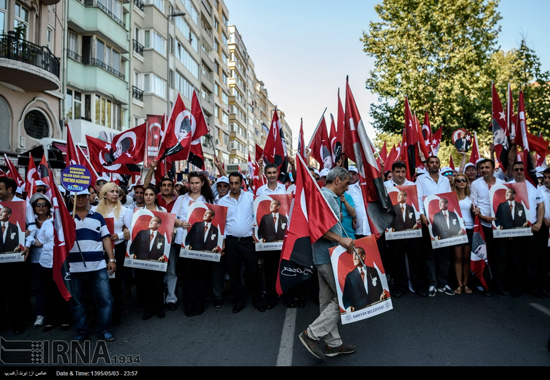
[[[103, 216], [88, 210], [90, 193], [84, 190], [76, 194], [75, 218], [76, 243], [69, 252], [69, 271], [72, 289], [73, 325], [78, 335], [74, 340], [89, 339], [90, 325], [86, 295], [93, 293], [96, 301], [97, 334], [108, 342], [115, 340], [111, 333], [113, 297], [109, 288], [109, 273], [116, 270], [116, 260], [111, 235]], [[108, 264], [105, 264], [107, 253]]]

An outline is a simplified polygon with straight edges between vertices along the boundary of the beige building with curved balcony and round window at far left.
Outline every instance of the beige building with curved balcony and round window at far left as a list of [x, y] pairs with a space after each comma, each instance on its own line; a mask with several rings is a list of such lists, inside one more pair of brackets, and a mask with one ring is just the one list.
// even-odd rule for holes
[[62, 137], [64, 7], [0, 0], [0, 153], [15, 164], [42, 139]]

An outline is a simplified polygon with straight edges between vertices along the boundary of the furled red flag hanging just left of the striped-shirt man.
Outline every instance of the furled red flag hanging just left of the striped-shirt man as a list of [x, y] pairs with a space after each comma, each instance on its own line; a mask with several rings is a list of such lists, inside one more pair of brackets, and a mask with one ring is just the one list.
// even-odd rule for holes
[[[50, 170], [49, 177], [53, 173]], [[71, 298], [69, 251], [76, 241], [76, 225], [74, 219], [63, 202], [57, 186], [51, 186], [53, 205], [54, 245], [53, 245], [53, 280], [59, 293], [66, 301]]]

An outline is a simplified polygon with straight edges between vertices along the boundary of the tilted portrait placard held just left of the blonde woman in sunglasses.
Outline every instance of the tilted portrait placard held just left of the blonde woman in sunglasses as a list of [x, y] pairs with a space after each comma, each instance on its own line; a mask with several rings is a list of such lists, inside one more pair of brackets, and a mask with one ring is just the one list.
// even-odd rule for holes
[[430, 221], [428, 229], [432, 248], [450, 247], [468, 242], [464, 219], [455, 192], [425, 197], [424, 209]]

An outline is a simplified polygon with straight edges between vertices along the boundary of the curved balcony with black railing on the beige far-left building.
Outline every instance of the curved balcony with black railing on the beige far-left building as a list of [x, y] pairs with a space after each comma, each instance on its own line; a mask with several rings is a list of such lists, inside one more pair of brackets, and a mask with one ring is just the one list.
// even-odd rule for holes
[[14, 32], [0, 35], [0, 81], [23, 91], [57, 90], [59, 58]]

